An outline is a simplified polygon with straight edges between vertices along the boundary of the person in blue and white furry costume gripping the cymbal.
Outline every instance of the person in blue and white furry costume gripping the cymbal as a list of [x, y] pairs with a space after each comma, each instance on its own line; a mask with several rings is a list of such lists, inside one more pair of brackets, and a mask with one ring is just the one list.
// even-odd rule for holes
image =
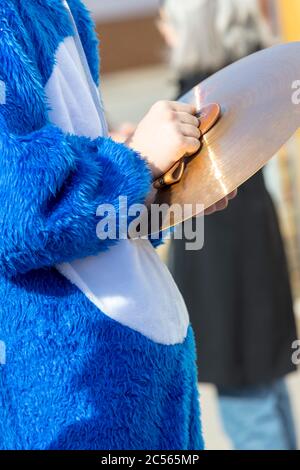
[[196, 110], [108, 138], [80, 0], [1, 0], [0, 64], [0, 448], [202, 449], [175, 283], [150, 241], [97, 236], [101, 204], [144, 203], [199, 148]]

